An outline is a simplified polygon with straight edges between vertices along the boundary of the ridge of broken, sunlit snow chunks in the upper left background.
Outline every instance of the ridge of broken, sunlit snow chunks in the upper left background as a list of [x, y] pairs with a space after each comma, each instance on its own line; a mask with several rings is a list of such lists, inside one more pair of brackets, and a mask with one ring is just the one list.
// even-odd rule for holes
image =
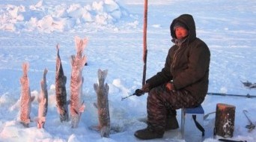
[[92, 4], [44, 5], [7, 4], [0, 9], [0, 30], [6, 31], [68, 31], [86, 24], [113, 25], [127, 16], [115, 0], [94, 1]]

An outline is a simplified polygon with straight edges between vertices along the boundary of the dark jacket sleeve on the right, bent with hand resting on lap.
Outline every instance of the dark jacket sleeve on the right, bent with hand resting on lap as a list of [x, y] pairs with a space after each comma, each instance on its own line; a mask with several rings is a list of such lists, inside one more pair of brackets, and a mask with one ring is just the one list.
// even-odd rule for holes
[[194, 45], [189, 51], [187, 68], [173, 78], [174, 87], [180, 89], [189, 86], [204, 77], [209, 71], [210, 50], [204, 42]]

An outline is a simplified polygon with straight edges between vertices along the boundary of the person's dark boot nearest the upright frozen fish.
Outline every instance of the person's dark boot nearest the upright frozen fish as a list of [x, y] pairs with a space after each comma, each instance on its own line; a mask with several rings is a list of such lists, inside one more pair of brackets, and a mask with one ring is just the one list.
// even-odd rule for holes
[[153, 129], [153, 127], [147, 126], [146, 129], [138, 130], [134, 133], [136, 138], [141, 140], [150, 140], [154, 138], [162, 138], [164, 131]]

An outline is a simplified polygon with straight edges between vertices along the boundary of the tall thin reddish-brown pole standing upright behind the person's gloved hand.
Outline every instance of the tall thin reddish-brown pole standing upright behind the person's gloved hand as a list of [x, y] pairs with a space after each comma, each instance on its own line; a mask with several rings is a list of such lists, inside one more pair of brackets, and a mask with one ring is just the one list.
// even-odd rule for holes
[[145, 84], [147, 70], [147, 0], [144, 0], [143, 63], [142, 86]]

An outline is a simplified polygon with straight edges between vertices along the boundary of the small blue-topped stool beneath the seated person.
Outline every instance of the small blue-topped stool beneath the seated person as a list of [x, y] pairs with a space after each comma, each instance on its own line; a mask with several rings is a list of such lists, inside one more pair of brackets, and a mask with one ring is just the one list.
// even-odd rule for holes
[[201, 105], [195, 108], [181, 109], [181, 134], [185, 141], [202, 141], [204, 136], [204, 109]]

